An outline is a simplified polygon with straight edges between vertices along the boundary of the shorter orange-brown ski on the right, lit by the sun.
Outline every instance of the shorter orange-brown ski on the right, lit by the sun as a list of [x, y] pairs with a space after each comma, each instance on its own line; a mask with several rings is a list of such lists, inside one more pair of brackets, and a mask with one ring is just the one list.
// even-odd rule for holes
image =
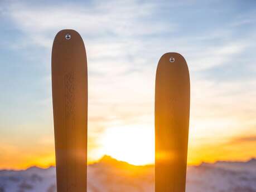
[[155, 191], [185, 192], [190, 77], [178, 53], [160, 58], [155, 90]]

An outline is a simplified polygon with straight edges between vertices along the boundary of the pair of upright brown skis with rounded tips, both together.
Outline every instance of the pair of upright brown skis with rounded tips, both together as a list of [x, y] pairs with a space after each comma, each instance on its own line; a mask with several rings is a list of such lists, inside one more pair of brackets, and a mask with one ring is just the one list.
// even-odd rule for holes
[[[155, 93], [157, 192], [183, 192], [186, 185], [190, 80], [185, 59], [166, 53], [157, 66]], [[88, 76], [78, 32], [57, 33], [52, 47], [58, 192], [86, 192]]]

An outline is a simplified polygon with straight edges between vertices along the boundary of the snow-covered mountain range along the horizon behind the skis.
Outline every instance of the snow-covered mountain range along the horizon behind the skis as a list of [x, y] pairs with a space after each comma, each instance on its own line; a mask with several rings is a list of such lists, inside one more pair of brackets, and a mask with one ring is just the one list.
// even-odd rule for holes
[[[0, 192], [55, 192], [55, 168], [1, 170]], [[88, 192], [153, 192], [154, 166], [134, 166], [104, 156], [88, 166]], [[187, 192], [256, 192], [256, 160], [218, 161], [187, 169]]]

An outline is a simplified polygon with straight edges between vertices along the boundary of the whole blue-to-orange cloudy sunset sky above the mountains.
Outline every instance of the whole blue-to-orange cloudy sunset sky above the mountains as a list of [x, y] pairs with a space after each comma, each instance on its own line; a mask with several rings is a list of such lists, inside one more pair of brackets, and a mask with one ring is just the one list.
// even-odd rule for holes
[[89, 163], [154, 163], [166, 52], [190, 70], [188, 164], [256, 157], [255, 1], [0, 0], [0, 28], [0, 169], [55, 164], [51, 48], [65, 28], [86, 47]]

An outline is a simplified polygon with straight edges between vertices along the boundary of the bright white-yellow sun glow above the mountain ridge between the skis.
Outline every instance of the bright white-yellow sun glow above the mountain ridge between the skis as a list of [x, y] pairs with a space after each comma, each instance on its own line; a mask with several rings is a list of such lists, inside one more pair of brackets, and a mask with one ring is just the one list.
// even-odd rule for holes
[[154, 129], [131, 125], [111, 127], [104, 132], [104, 152], [133, 165], [154, 163]]

